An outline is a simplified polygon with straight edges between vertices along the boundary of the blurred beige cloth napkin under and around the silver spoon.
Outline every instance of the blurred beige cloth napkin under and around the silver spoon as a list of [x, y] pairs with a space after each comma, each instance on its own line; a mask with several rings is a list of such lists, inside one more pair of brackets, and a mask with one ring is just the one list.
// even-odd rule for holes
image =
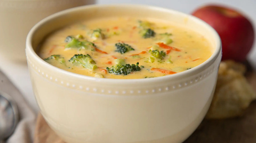
[[9, 94], [13, 98], [19, 111], [17, 127], [14, 133], [6, 140], [6, 143], [33, 143], [36, 113], [2, 71], [0, 71], [0, 91]]

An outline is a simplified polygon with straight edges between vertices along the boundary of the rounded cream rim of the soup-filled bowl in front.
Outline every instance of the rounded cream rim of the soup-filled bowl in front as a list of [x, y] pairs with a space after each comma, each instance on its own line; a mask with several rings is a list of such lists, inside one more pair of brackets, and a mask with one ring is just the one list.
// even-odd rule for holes
[[[37, 29], [40, 28], [42, 25], [46, 24], [48, 21], [52, 21], [54, 20], [56, 17], [60, 17], [63, 15], [66, 15], [70, 12], [75, 12], [75, 11], [81, 11], [83, 9], [87, 9], [87, 8], [113, 8], [113, 7], [123, 7], [123, 8], [147, 8], [150, 10], [157, 10], [157, 11], [162, 11], [162, 12], [168, 12], [168, 13], [175, 13], [178, 15], [182, 15], [184, 17], [187, 17], [199, 24], [203, 24], [204, 26], [206, 26], [212, 33], [212, 35], [215, 37], [216, 41], [216, 49], [213, 52], [213, 54], [206, 60], [204, 61], [202, 64], [190, 69], [190, 70], [186, 70], [186, 71], [182, 71], [179, 73], [175, 73], [175, 74], [171, 74], [171, 75], [165, 75], [165, 76], [159, 76], [159, 77], [154, 77], [154, 78], [139, 78], [139, 79], [113, 79], [113, 78], [98, 78], [98, 77], [93, 77], [93, 76], [88, 76], [88, 75], [82, 75], [82, 74], [78, 74], [78, 73], [73, 73], [70, 71], [65, 71], [63, 69], [57, 68], [47, 62], [45, 62], [41, 57], [39, 57], [36, 52], [33, 50], [32, 47], [32, 39], [33, 39], [33, 35], [36, 33]], [[80, 6], [80, 7], [76, 7], [76, 8], [69, 8], [57, 13], [54, 13], [46, 18], [44, 18], [43, 20], [41, 20], [40, 22], [38, 22], [37, 24], [35, 24], [32, 29], [29, 31], [27, 39], [26, 39], [26, 53], [30, 52], [32, 54], [32, 58], [37, 60], [37, 62], [39, 62], [42, 66], [47, 67], [48, 69], [52, 69], [55, 72], [60, 72], [65, 74], [66, 76], [70, 76], [70, 77], [75, 77], [75, 78], [79, 78], [82, 80], [91, 80], [91, 81], [97, 81], [97, 82], [103, 82], [103, 83], [126, 83], [126, 84], [134, 84], [134, 83], [144, 83], [144, 82], [152, 82], [155, 80], [164, 82], [164, 81], [172, 81], [172, 80], [177, 80], [177, 79], [181, 79], [182, 77], [187, 77], [188, 75], [195, 75], [198, 73], [198, 71], [203, 71], [204, 69], [206, 69], [207, 67], [209, 67], [216, 59], [217, 57], [220, 55], [222, 50], [222, 43], [221, 43], [221, 39], [220, 36], [218, 35], [218, 33], [206, 22], [204, 22], [203, 20], [190, 15], [190, 14], [185, 14], [183, 12], [179, 12], [176, 10], [172, 10], [172, 9], [168, 9], [168, 8], [162, 8], [162, 7], [155, 7], [155, 6], [149, 6], [149, 5], [140, 5], [140, 4], [94, 4], [94, 5], [86, 5], [86, 6]], [[28, 54], [26, 54], [27, 58], [28, 58]]]

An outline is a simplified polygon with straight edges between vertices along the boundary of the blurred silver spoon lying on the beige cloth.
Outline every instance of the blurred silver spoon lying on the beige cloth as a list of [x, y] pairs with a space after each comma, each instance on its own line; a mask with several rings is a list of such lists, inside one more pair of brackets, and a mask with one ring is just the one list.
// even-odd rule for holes
[[13, 133], [18, 118], [18, 109], [11, 96], [0, 92], [0, 143]]

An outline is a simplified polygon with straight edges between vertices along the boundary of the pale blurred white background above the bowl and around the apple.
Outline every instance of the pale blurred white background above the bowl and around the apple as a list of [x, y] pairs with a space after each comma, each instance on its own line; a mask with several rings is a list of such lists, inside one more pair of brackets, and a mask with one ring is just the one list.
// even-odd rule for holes
[[[163, 8], [170, 8], [184, 13], [191, 13], [196, 8], [205, 4], [223, 4], [236, 8], [247, 15], [254, 23], [256, 30], [256, 0], [97, 0], [98, 4], [146, 4]], [[256, 37], [254, 47], [250, 51], [249, 60], [256, 68]]]

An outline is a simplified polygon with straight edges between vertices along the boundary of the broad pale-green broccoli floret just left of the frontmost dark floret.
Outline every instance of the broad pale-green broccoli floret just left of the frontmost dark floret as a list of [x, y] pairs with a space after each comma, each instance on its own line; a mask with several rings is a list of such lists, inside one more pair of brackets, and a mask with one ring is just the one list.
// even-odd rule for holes
[[75, 65], [80, 65], [80, 66], [90, 69], [90, 70], [95, 70], [97, 68], [96, 62], [88, 54], [87, 55], [83, 55], [83, 54], [74, 55], [69, 60], [69, 62], [72, 62]]

